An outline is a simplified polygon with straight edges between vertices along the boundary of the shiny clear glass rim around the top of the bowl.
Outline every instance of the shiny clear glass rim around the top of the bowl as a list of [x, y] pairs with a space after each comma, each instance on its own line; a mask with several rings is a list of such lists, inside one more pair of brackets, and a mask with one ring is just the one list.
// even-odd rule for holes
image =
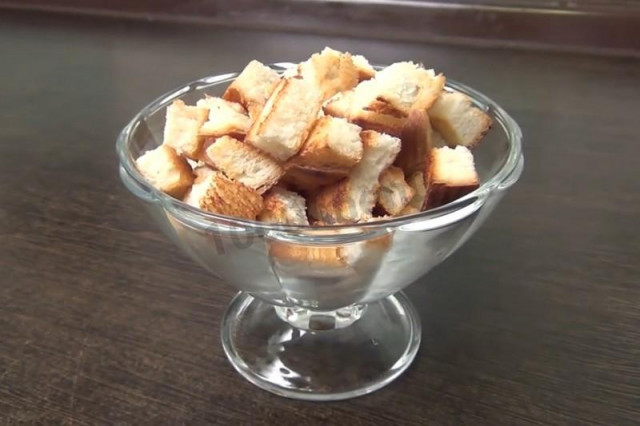
[[[279, 73], [283, 73], [284, 71], [297, 66], [297, 64], [289, 62], [277, 62], [267, 64], [267, 66], [273, 68]], [[386, 65], [374, 65], [374, 68], [377, 70], [383, 69], [385, 67]], [[364, 230], [367, 228], [399, 227], [408, 223], [414, 224], [416, 222], [419, 222], [421, 225], [426, 225], [429, 221], [433, 221], [434, 226], [428, 226], [428, 228], [440, 228], [442, 226], [458, 222], [464, 217], [467, 217], [469, 214], [473, 214], [480, 207], [482, 207], [484, 201], [492, 191], [510, 187], [518, 180], [522, 172], [522, 168], [524, 166], [524, 157], [522, 154], [522, 131], [516, 121], [509, 115], [509, 113], [507, 113], [500, 105], [498, 105], [488, 96], [463, 83], [459, 83], [456, 80], [447, 78], [445, 90], [464, 93], [471, 98], [473, 104], [476, 107], [484, 110], [485, 112], [493, 112], [493, 126], [497, 124], [497, 121], [505, 131], [509, 143], [509, 153], [507, 154], [507, 158], [500, 169], [495, 172], [493, 176], [483, 182], [474, 191], [444, 206], [409, 215], [382, 220], [373, 220], [362, 223], [347, 223], [323, 226], [286, 225], [259, 222], [257, 220], [242, 219], [201, 210], [197, 207], [184, 203], [182, 200], [173, 198], [170, 195], [165, 194], [164, 192], [153, 187], [138, 171], [137, 167], [135, 166], [135, 159], [129, 151], [129, 141], [136, 127], [145, 120], [146, 116], [157, 112], [161, 108], [164, 108], [176, 98], [189, 92], [219, 86], [221, 84], [230, 82], [239, 74], [240, 72], [222, 73], [193, 80], [187, 84], [183, 84], [173, 90], [164, 93], [154, 101], [147, 104], [137, 114], [135, 114], [134, 117], [129, 121], [129, 123], [122, 129], [122, 131], [118, 135], [116, 142], [116, 151], [118, 154], [122, 179], [133, 179], [138, 188], [142, 188], [145, 194], [151, 196], [151, 200], [149, 201], [160, 202], [163, 207], [172, 211], [178, 216], [183, 216], [185, 214], [190, 215], [192, 218], [195, 218], [196, 222], [198, 223], [202, 223], [202, 221], [204, 220], [205, 222], [207, 222], [207, 225], [232, 226], [239, 227], [245, 230], [249, 228], [254, 230], [266, 231], [281, 230], [322, 232], [324, 230], [335, 231], [345, 230], [349, 228]], [[126, 172], [126, 175], [122, 174], [123, 169], [124, 172]], [[127, 182], [125, 182], [125, 184], [126, 183]], [[129, 185], [127, 186], [129, 187], [129, 189], [131, 189]], [[139, 194], [134, 195], [140, 197]], [[471, 206], [472, 208], [466, 208], [469, 206]], [[468, 214], [463, 214], [461, 217], [460, 213], [462, 213], [462, 210], [466, 211], [466, 213]]]

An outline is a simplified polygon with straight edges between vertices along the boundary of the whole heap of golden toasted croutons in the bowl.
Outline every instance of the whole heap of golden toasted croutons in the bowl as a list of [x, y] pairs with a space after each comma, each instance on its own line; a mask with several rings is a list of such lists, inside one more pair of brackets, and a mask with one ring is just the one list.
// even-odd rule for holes
[[167, 107], [162, 145], [137, 167], [197, 208], [290, 225], [362, 223], [449, 203], [479, 185], [490, 117], [445, 77], [376, 71], [330, 48], [280, 75], [250, 62], [222, 97]]

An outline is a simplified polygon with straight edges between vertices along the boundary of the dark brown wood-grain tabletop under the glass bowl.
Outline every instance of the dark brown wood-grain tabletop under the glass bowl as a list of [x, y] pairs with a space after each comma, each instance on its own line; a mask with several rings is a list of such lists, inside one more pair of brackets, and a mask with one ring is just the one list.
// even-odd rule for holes
[[[640, 418], [640, 62], [0, 15], [0, 424], [631, 425]], [[325, 45], [423, 61], [501, 103], [525, 173], [407, 293], [413, 366], [339, 403], [258, 390], [219, 343], [234, 294], [120, 183], [159, 94]]]

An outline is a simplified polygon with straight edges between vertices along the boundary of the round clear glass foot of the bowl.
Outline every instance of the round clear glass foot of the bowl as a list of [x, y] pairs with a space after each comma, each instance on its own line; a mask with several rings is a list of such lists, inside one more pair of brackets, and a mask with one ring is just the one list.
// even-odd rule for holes
[[420, 338], [419, 316], [402, 293], [331, 312], [274, 308], [238, 293], [222, 322], [222, 346], [240, 374], [310, 401], [382, 388], [409, 367]]

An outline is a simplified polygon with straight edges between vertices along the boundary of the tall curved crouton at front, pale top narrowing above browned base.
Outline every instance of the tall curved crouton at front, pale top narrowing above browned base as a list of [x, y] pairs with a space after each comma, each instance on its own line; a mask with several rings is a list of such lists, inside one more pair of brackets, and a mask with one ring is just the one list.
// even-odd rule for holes
[[327, 224], [355, 223], [371, 218], [380, 187], [380, 174], [400, 151], [400, 139], [374, 131], [361, 133], [362, 160], [349, 177], [325, 187], [309, 198], [309, 213]]

